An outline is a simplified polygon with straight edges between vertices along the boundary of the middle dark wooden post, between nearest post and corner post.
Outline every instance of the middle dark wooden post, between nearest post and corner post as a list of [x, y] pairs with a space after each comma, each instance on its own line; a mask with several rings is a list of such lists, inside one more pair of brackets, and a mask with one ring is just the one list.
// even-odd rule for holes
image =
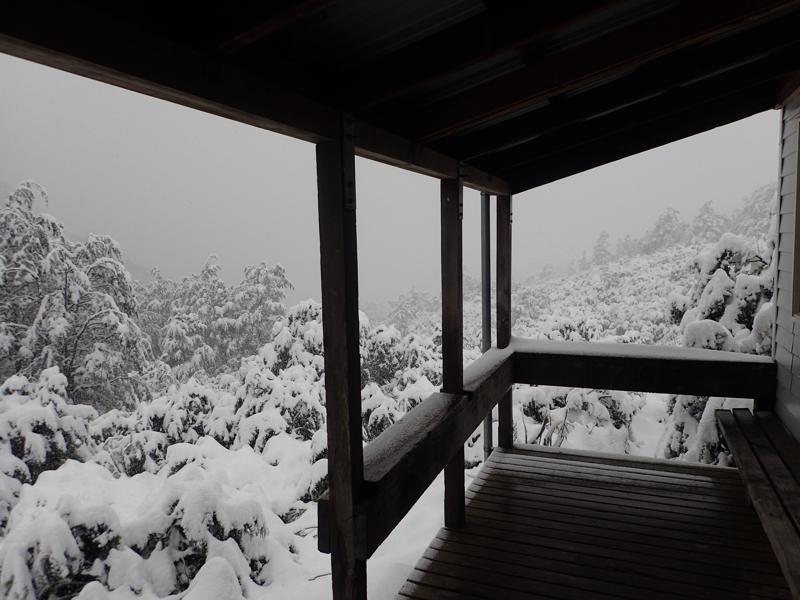
[[[462, 281], [461, 179], [442, 180], [442, 391], [460, 394], [464, 387], [464, 294]], [[464, 446], [444, 469], [444, 524], [462, 527]]]

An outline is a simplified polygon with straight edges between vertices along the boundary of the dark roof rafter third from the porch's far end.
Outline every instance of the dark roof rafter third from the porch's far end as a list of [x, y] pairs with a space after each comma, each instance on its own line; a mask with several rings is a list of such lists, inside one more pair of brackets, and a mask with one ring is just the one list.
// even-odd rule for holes
[[428, 107], [409, 121], [411, 137], [431, 143], [499, 122], [553, 96], [613, 81], [682, 48], [770, 22], [800, 8], [794, 0], [679, 3], [669, 11], [571, 47]]

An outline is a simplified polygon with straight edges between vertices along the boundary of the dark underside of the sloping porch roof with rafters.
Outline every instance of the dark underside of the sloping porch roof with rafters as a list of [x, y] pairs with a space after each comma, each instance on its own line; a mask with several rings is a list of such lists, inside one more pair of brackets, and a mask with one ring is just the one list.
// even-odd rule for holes
[[[775, 107], [800, 1], [19, 2], [0, 51], [518, 193]], [[47, 14], [46, 19], [41, 15]]]

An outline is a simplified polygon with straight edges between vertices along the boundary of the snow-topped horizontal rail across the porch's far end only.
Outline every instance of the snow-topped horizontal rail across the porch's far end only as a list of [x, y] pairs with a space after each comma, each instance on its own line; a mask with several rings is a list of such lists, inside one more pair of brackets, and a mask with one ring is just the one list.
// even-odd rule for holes
[[776, 365], [766, 356], [517, 338], [512, 347], [516, 383], [753, 398], [760, 410], [775, 396]]

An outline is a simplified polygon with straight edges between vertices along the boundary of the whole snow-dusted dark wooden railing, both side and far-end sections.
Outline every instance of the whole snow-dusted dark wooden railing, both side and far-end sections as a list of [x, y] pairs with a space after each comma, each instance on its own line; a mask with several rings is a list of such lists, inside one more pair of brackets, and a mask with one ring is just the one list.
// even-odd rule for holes
[[[372, 556], [514, 383], [751, 398], [759, 410], [771, 410], [775, 382], [775, 362], [765, 356], [513, 338], [465, 369], [462, 394], [432, 394], [364, 448], [357, 554]], [[322, 552], [330, 551], [328, 508], [323, 496]]]

